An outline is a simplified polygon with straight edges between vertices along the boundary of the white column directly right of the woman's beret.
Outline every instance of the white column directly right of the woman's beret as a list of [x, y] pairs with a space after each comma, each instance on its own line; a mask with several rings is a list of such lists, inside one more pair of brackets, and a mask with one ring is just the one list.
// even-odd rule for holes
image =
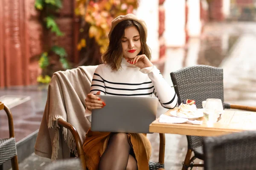
[[159, 59], [159, 0], [140, 0], [134, 13], [145, 20], [148, 27], [147, 44], [152, 50], [152, 61]]

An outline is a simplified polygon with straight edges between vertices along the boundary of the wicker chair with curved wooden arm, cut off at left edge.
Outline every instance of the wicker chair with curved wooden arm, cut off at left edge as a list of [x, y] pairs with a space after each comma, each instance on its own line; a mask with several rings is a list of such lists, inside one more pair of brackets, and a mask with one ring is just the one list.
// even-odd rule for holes
[[4, 110], [8, 116], [9, 123], [9, 138], [3, 139], [0, 138], [0, 166], [9, 159], [12, 161], [12, 169], [18, 170], [18, 158], [17, 158], [17, 149], [16, 142], [14, 137], [14, 127], [13, 127], [13, 119], [12, 113], [10, 109], [0, 102], [0, 110]]

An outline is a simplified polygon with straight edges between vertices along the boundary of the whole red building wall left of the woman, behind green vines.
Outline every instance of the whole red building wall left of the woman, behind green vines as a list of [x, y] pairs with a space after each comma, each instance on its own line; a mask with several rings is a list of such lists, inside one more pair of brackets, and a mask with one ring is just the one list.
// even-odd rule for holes
[[56, 22], [65, 36], [55, 37], [44, 32], [35, 0], [0, 0], [0, 87], [37, 84], [47, 45], [60, 45], [73, 57], [73, 1], [62, 2]]

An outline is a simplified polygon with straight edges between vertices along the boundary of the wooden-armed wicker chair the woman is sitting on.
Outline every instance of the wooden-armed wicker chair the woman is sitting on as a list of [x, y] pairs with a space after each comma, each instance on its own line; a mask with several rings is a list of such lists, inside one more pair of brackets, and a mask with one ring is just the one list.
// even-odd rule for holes
[[[73, 77], [74, 78], [74, 77]], [[85, 168], [85, 160], [84, 160], [84, 150], [82, 147], [81, 139], [79, 137], [79, 133], [76, 128], [70, 123], [66, 122], [63, 119], [58, 119], [58, 125], [67, 128], [72, 133], [75, 142], [76, 142], [76, 150], [78, 153], [78, 157], [81, 160], [82, 166]], [[159, 168], [164, 168], [164, 154], [165, 154], [165, 134], [159, 133], [160, 135], [160, 145], [159, 145], [159, 161], [158, 162], [149, 162], [149, 170], [158, 170]]]

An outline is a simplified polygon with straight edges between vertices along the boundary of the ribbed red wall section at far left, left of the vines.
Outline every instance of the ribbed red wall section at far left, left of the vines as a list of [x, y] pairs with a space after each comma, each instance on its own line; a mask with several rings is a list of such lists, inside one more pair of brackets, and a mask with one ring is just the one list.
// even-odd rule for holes
[[0, 3], [0, 87], [29, 85], [27, 1]]

